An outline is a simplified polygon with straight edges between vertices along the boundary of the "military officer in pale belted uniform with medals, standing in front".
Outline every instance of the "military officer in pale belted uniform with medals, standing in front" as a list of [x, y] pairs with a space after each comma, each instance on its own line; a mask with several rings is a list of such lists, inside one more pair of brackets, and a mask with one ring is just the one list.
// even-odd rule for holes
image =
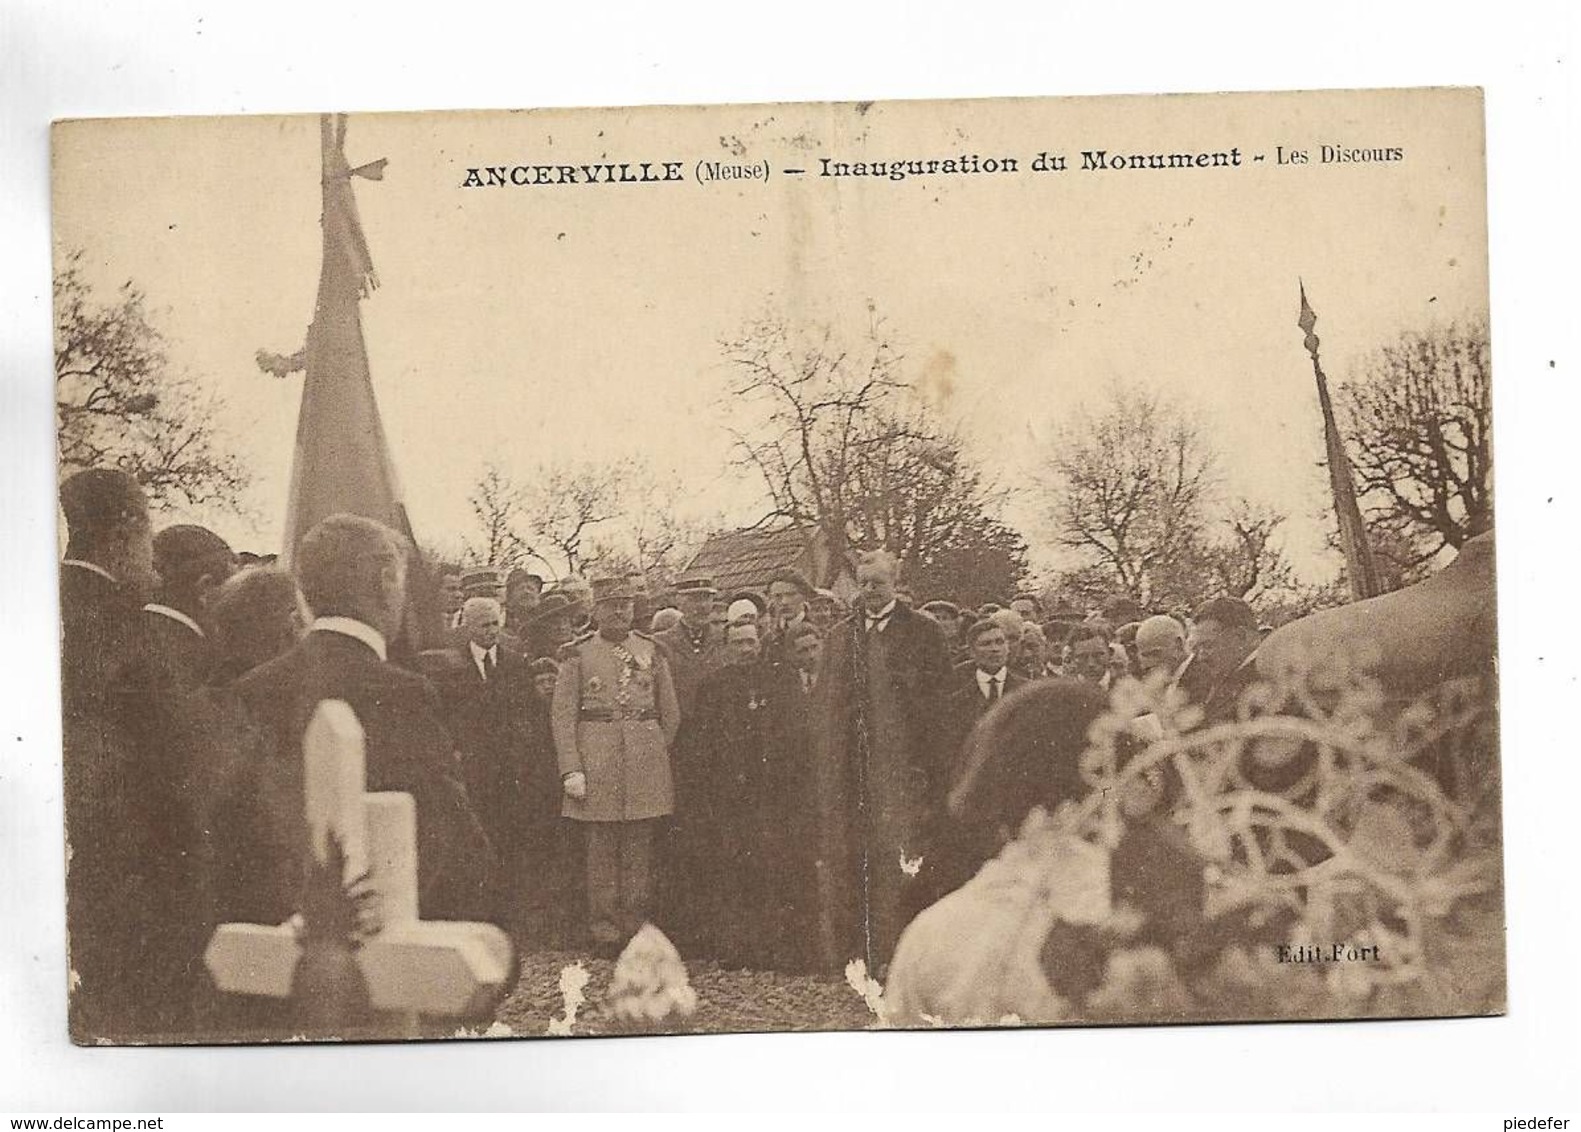
[[664, 650], [631, 629], [626, 580], [598, 579], [593, 609], [598, 632], [563, 650], [550, 716], [563, 813], [587, 836], [588, 931], [613, 955], [653, 906], [653, 833], [675, 805], [680, 708]]

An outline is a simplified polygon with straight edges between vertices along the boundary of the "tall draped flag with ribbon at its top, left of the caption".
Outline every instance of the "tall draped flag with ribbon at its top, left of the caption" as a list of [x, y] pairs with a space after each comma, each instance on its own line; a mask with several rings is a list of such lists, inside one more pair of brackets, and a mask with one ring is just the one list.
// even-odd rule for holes
[[[291, 566], [302, 536], [326, 515], [375, 519], [405, 534], [416, 549], [400, 479], [379, 421], [362, 337], [362, 299], [378, 286], [373, 258], [362, 234], [354, 175], [383, 180], [384, 161], [353, 169], [346, 163], [346, 115], [319, 117], [323, 149], [324, 261], [318, 280], [313, 323], [307, 330], [302, 365], [302, 411], [291, 460], [281, 561]], [[427, 571], [413, 555], [408, 591], [424, 593]], [[408, 601], [408, 636], [416, 642], [419, 613]]]

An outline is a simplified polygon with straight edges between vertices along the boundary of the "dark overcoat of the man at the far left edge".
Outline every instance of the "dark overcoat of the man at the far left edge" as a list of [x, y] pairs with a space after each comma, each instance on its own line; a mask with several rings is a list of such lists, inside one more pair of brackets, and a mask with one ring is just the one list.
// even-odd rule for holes
[[169, 735], [179, 704], [144, 617], [115, 580], [62, 566], [70, 1026], [79, 1042], [190, 1036], [207, 942], [193, 791]]

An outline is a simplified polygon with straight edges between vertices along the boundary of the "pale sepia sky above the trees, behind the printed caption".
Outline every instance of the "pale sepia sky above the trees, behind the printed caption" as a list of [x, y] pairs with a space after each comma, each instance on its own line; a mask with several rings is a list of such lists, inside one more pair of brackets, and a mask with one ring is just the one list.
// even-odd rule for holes
[[[1398, 145], [1320, 164], [1323, 144]], [[1240, 169], [1080, 172], [1081, 150], [1240, 147]], [[1281, 166], [1276, 145], [1312, 163]], [[1040, 150], [1070, 169], [1032, 174]], [[822, 179], [840, 161], [1017, 157], [1017, 175]], [[1265, 153], [1263, 163], [1252, 163]], [[353, 164], [381, 288], [362, 304], [373, 381], [419, 538], [455, 542], [482, 463], [643, 455], [697, 514], [760, 515], [727, 466], [718, 340], [792, 319], [887, 319], [923, 391], [1004, 484], [1029, 485], [1058, 424], [1113, 379], [1200, 409], [1225, 489], [1289, 512], [1307, 572], [1326, 485], [1296, 278], [1333, 383], [1401, 330], [1486, 311], [1480, 100], [1472, 92], [1224, 95], [354, 115]], [[462, 190], [468, 166], [678, 160], [670, 185]], [[699, 185], [699, 160], [770, 163]], [[275, 550], [319, 272], [315, 117], [71, 123], [55, 136], [57, 247], [147, 292], [175, 364], [223, 392]], [[787, 177], [783, 168], [806, 168]], [[108, 294], [108, 289], [106, 289]], [[1047, 508], [1009, 519], [1045, 564]]]

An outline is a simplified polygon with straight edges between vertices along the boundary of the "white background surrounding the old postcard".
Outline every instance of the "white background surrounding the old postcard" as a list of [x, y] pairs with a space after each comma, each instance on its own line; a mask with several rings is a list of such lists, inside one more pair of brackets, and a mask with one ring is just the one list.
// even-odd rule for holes
[[[0, 9], [0, 1110], [1573, 1110], [1581, 182], [1564, 6], [568, 6], [585, 14], [280, 0]], [[1507, 1018], [270, 1051], [66, 1042], [46, 376], [51, 119], [1382, 85], [1483, 85], [1488, 98]]]

